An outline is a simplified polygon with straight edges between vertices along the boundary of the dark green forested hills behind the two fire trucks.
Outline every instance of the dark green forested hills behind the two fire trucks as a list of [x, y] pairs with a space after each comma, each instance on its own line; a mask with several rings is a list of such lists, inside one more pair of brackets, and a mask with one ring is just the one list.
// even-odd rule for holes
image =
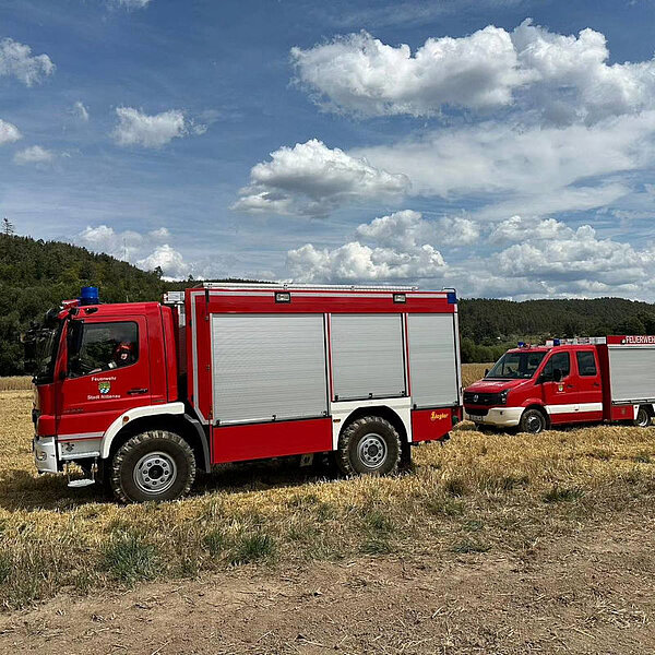
[[[46, 310], [94, 285], [104, 302], [158, 300], [169, 283], [107, 254], [59, 241], [0, 235], [0, 376], [28, 373], [21, 335]], [[591, 300], [465, 299], [460, 301], [462, 358], [495, 361], [517, 341], [552, 336], [655, 334], [655, 306], [621, 298]]]

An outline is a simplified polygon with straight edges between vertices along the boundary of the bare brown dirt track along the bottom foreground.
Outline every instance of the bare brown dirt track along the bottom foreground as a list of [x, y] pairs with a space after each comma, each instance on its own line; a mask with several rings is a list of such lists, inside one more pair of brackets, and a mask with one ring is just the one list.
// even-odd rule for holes
[[655, 514], [524, 553], [247, 569], [0, 618], [0, 653], [654, 653]]

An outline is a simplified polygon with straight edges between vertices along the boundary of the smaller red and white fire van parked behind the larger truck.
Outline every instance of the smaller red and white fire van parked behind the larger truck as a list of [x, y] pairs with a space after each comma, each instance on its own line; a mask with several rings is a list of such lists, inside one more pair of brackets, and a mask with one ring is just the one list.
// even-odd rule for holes
[[468, 420], [532, 433], [577, 422], [647, 427], [654, 404], [655, 336], [519, 344], [464, 390]]

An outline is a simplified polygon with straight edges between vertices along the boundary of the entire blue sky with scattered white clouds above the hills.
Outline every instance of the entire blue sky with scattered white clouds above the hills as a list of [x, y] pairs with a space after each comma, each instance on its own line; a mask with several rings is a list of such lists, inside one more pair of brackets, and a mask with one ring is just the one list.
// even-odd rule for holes
[[655, 300], [653, 25], [653, 0], [1, 0], [0, 215], [170, 277]]

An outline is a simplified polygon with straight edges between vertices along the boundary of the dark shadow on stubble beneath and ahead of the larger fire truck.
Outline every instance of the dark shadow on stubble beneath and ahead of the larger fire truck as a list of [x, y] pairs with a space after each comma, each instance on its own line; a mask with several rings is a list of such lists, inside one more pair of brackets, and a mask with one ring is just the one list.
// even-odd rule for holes
[[[299, 487], [308, 483], [338, 477], [340, 474], [333, 466], [300, 467], [297, 458], [293, 457], [226, 464], [215, 467], [211, 474], [199, 474], [191, 497]], [[8, 469], [0, 475], [0, 509], [8, 512], [39, 510], [66, 512], [92, 503], [117, 502], [100, 484], [69, 488], [64, 475], [36, 477], [22, 468]]]

